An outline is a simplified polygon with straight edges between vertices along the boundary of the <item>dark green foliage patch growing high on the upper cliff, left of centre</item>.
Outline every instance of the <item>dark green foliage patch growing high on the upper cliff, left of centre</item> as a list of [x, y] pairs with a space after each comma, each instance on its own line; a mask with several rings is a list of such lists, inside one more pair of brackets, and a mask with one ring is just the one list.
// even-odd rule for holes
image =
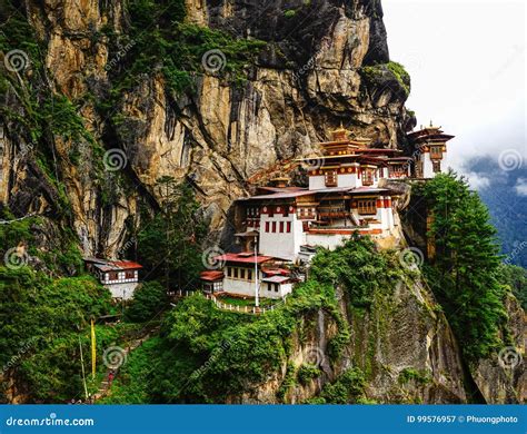
[[193, 86], [196, 73], [203, 73], [202, 58], [210, 50], [220, 50], [225, 56], [218, 72], [235, 82], [243, 81], [245, 67], [265, 46], [262, 41], [235, 39], [222, 31], [185, 22], [183, 0], [131, 0], [128, 12], [127, 36], [116, 39], [110, 34], [115, 43], [110, 59], [113, 53], [119, 55], [118, 65], [110, 68], [115, 81], [112, 98], [151, 70], [161, 71], [169, 88], [181, 93]]

